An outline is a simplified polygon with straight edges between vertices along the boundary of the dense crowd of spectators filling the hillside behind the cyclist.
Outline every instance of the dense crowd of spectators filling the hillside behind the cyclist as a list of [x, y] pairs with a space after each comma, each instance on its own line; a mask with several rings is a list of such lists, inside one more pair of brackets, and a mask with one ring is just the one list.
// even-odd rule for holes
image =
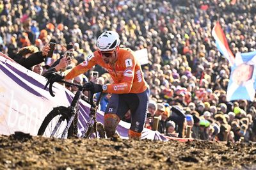
[[[148, 128], [157, 116], [158, 130], [166, 135], [184, 137], [190, 126], [195, 139], [223, 141], [228, 132], [232, 142], [256, 141], [256, 100], [226, 100], [230, 66], [211, 36], [217, 20], [233, 54], [256, 50], [254, 0], [4, 0], [0, 51], [14, 58], [22, 47], [42, 50], [55, 42], [54, 55], [42, 63], [47, 69], [72, 44], [75, 66], [96, 50], [100, 33], [115, 30], [121, 47], [148, 50]], [[100, 83], [111, 81], [104, 70], [93, 70]], [[86, 82], [86, 76], [74, 81]]]

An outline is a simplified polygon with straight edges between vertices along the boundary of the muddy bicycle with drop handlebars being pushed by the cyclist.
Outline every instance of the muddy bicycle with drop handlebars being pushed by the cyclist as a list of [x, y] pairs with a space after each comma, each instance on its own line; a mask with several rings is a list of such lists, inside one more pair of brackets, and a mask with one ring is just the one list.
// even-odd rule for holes
[[[52, 79], [49, 79], [45, 84], [45, 88], [47, 88], [49, 84], [49, 93], [52, 95], [52, 97], [54, 97], [54, 94], [52, 92], [52, 84], [54, 82], [55, 82], [54, 80], [52, 81]], [[76, 92], [76, 95], [74, 96], [69, 107], [64, 107], [64, 106], [54, 107], [54, 109], [51, 112], [49, 112], [49, 114], [47, 114], [44, 121], [42, 122], [42, 125], [38, 130], [37, 135], [47, 136], [48, 134], [46, 131], [49, 130], [49, 132], [51, 133], [49, 137], [57, 137], [57, 138], [60, 137], [61, 139], [78, 137], [77, 122], [78, 122], [78, 116], [79, 116], [79, 111], [78, 111], [79, 100], [84, 97], [83, 91], [88, 89], [88, 85], [90, 83], [86, 83], [83, 86], [81, 86], [80, 84], [75, 84], [67, 81], [58, 81], [58, 82], [68, 84], [69, 86], [77, 86], [78, 91]], [[87, 101], [91, 105], [89, 120], [86, 123], [84, 130], [82, 130], [81, 137], [105, 138], [106, 135], [105, 135], [104, 126], [102, 125], [102, 123], [97, 122], [96, 120], [96, 112], [99, 107], [99, 102], [100, 102], [102, 93], [100, 93], [99, 98], [97, 99], [97, 102], [93, 102], [93, 95], [94, 94], [89, 93], [89, 101]], [[63, 123], [67, 123], [67, 125], [63, 125]]]

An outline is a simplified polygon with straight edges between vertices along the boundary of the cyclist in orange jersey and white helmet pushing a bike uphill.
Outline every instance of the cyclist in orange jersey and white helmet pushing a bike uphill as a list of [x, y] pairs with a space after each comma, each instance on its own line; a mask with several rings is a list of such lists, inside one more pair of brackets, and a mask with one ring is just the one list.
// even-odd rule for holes
[[115, 31], [105, 31], [97, 39], [97, 48], [83, 63], [73, 68], [65, 79], [72, 79], [88, 71], [94, 65], [106, 68], [113, 84], [95, 84], [92, 93], [112, 93], [104, 115], [104, 127], [108, 137], [113, 137], [116, 127], [125, 113], [131, 110], [130, 139], [140, 139], [143, 130], [149, 97], [148, 84], [145, 82], [141, 66], [131, 49], [119, 47], [120, 39]]

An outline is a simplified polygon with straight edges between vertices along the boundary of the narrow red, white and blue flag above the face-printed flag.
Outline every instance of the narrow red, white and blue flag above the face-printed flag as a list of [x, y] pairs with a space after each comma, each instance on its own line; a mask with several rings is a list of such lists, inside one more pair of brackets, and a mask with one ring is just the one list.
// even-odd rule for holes
[[229, 49], [227, 38], [221, 29], [220, 23], [217, 22], [212, 29], [212, 36], [215, 39], [216, 46], [220, 50], [221, 54], [228, 59], [230, 65], [234, 65], [235, 58], [231, 50]]

